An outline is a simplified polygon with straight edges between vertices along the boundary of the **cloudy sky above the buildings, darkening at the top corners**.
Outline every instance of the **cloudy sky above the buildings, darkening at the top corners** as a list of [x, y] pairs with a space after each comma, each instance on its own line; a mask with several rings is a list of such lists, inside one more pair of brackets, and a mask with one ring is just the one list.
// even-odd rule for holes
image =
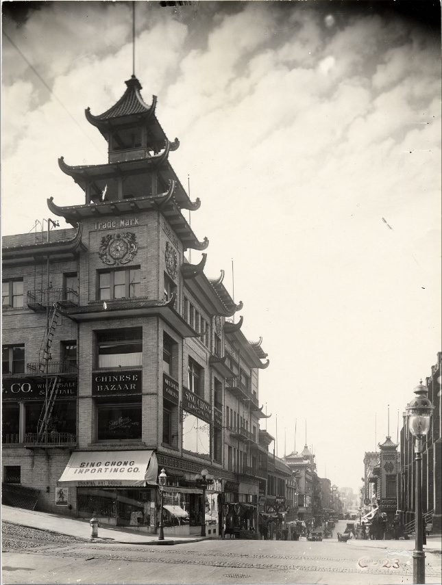
[[[432, 1], [136, 1], [135, 73], [180, 138], [206, 274], [225, 270], [269, 354], [278, 455], [307, 439], [354, 489], [441, 350], [439, 18]], [[84, 109], [125, 90], [132, 3], [3, 3], [2, 42], [7, 235], [50, 196], [84, 203], [57, 159], [107, 160]]]

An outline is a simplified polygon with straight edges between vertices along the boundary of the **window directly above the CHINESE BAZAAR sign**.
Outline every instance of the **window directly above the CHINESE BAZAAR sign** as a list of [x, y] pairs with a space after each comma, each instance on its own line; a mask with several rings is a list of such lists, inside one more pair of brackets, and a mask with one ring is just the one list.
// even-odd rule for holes
[[140, 367], [143, 356], [143, 329], [108, 330], [97, 333], [98, 367]]

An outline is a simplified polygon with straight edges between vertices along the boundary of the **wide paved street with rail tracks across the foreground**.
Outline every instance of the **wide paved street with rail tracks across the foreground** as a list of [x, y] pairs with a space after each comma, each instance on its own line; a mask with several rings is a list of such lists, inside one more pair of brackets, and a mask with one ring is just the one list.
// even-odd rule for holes
[[[336, 536], [336, 531], [335, 531]], [[94, 543], [5, 523], [8, 584], [407, 584], [404, 541], [338, 543], [214, 540], [173, 547]], [[409, 547], [408, 547], [409, 548]], [[441, 582], [441, 556], [427, 552], [426, 582]]]

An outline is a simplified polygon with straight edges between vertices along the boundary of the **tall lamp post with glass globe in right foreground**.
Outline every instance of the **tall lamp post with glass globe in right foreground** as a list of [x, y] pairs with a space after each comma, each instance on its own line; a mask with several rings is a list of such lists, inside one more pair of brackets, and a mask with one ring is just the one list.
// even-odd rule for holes
[[416, 462], [416, 509], [415, 509], [415, 550], [413, 551], [413, 583], [425, 583], [425, 554], [423, 552], [422, 526], [422, 450], [423, 437], [430, 430], [433, 406], [427, 398], [428, 389], [422, 380], [414, 390], [416, 396], [406, 406], [408, 429], [415, 438]]

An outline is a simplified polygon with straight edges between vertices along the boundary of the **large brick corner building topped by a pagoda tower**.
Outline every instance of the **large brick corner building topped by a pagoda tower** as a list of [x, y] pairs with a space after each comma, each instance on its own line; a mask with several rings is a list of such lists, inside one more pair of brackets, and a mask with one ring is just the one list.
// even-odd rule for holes
[[199, 200], [171, 167], [180, 143], [156, 97], [125, 83], [108, 111], [86, 110], [108, 162], [59, 159], [85, 202], [47, 203], [72, 228], [3, 238], [3, 502], [155, 532], [164, 467], [166, 534], [257, 533], [267, 354], [235, 322], [223, 272], [204, 274], [208, 239], [184, 218]]

